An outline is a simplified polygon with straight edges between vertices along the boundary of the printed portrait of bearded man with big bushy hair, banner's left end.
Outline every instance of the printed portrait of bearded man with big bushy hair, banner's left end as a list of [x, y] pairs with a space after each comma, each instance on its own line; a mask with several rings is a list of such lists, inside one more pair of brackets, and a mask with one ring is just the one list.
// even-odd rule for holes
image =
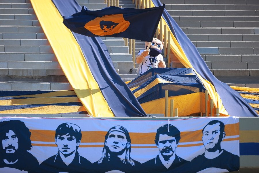
[[[28, 151], [32, 149], [31, 132], [24, 122], [0, 122], [0, 172], [38, 172], [39, 162]], [[5, 168], [7, 167], [7, 168]]]

